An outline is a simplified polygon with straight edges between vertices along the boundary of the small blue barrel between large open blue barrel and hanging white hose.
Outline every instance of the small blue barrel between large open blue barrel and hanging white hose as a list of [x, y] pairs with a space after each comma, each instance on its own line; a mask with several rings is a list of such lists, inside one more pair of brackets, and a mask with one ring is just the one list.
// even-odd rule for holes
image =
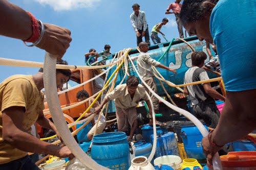
[[135, 156], [145, 156], [148, 158], [152, 151], [152, 144], [147, 143], [145, 140], [140, 140], [134, 143], [135, 146]]

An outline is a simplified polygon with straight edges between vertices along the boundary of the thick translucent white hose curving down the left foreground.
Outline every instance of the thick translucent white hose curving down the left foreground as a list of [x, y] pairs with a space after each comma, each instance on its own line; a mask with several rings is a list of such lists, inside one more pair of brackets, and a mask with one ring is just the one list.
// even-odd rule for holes
[[79, 147], [74, 137], [71, 135], [70, 130], [66, 124], [66, 120], [62, 114], [56, 87], [56, 58], [46, 52], [44, 63], [44, 85], [47, 95], [47, 102], [51, 111], [53, 122], [60, 133], [61, 138], [68, 146], [70, 151], [78, 158], [84, 165], [93, 170], [108, 169], [99, 165], [91, 157], [89, 157]]

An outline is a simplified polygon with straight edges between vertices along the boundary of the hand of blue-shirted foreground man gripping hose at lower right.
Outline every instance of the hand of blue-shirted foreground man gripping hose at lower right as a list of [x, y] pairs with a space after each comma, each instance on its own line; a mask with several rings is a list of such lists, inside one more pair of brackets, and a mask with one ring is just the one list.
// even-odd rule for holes
[[217, 147], [217, 146], [211, 144], [209, 142], [207, 136], [202, 139], [202, 147], [203, 147], [204, 154], [205, 154], [205, 156], [207, 158], [207, 166], [208, 166], [208, 168], [214, 169], [212, 167], [212, 158], [221, 149], [221, 147]]

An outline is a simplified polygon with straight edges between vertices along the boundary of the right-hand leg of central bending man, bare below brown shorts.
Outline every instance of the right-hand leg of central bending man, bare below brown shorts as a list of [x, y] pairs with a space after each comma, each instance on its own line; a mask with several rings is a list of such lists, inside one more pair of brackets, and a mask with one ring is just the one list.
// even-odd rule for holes
[[133, 139], [134, 132], [138, 127], [136, 108], [132, 107], [129, 109], [125, 109], [125, 114], [127, 116], [128, 122], [131, 126], [131, 132], [130, 132], [130, 137], [129, 137], [129, 141], [131, 141]]

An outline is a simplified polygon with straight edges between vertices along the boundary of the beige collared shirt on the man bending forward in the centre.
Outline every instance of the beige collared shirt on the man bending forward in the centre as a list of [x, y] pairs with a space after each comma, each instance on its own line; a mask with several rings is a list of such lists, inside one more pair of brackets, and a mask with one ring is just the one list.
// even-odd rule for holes
[[116, 86], [113, 91], [106, 94], [105, 99], [108, 101], [115, 99], [115, 106], [123, 109], [137, 106], [140, 99], [148, 101], [146, 90], [141, 84], [138, 85], [134, 93], [133, 100], [131, 99], [131, 95], [127, 90], [126, 84]]

